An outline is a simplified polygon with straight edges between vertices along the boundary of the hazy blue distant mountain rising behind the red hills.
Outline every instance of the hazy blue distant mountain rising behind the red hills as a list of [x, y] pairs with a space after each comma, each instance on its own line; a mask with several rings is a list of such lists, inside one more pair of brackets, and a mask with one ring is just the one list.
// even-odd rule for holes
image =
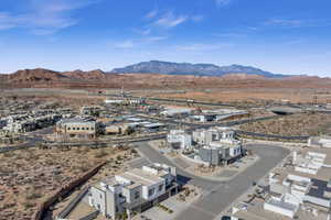
[[166, 74], [166, 75], [195, 75], [195, 76], [224, 76], [233, 74], [256, 75], [267, 78], [282, 78], [288, 75], [274, 74], [259, 68], [242, 65], [216, 66], [213, 64], [190, 64], [150, 61], [141, 62], [124, 68], [115, 68], [115, 74]]

